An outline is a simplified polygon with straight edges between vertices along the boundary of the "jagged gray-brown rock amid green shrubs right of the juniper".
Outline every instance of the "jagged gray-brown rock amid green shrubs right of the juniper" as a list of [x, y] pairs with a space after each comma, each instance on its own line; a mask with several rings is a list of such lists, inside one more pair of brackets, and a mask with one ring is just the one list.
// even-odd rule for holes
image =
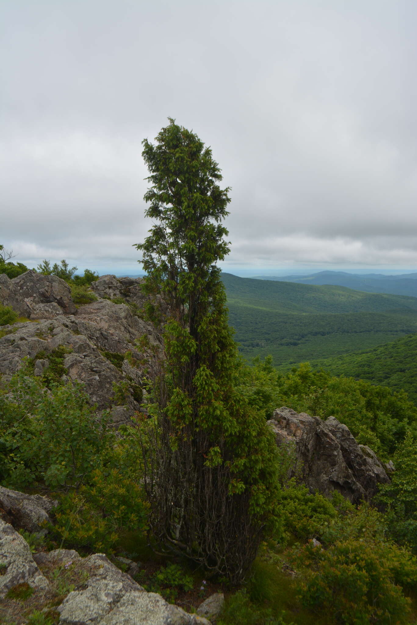
[[298, 476], [311, 491], [337, 490], [353, 502], [371, 499], [378, 484], [389, 482], [383, 464], [369, 449], [358, 445], [343, 423], [281, 407], [268, 421], [279, 446], [293, 450], [289, 477]]

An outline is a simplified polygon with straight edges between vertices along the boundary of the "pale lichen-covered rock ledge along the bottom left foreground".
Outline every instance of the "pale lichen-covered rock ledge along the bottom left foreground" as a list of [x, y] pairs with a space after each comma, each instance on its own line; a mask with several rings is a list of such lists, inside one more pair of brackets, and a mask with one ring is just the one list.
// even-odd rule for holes
[[[59, 612], [61, 624], [211, 625], [204, 617], [169, 604], [159, 594], [146, 592], [104, 554], [81, 557], [74, 549], [54, 549], [33, 555], [23, 536], [1, 520], [0, 567], [0, 599], [4, 600], [6, 612], [8, 605], [12, 607], [11, 599], [6, 597], [8, 591], [28, 584], [37, 606], [44, 606], [46, 611], [51, 602], [57, 605], [59, 598], [54, 609]], [[58, 584], [70, 572], [74, 581], [78, 579], [72, 592], [70, 584]]]

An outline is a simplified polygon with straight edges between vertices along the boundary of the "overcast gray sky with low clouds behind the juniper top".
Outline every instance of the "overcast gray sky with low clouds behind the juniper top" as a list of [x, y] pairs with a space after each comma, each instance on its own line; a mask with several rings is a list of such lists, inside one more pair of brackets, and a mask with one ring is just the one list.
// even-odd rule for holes
[[139, 272], [141, 141], [171, 116], [232, 187], [226, 271], [415, 269], [416, 23], [415, 0], [0, 0], [0, 243]]

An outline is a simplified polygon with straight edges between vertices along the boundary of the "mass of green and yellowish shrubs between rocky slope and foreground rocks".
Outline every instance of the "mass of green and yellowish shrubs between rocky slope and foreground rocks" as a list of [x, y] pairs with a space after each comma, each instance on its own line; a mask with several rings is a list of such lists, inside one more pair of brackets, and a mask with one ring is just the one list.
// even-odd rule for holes
[[123, 528], [146, 527], [138, 431], [121, 439], [81, 385], [51, 381], [59, 360], [57, 350], [47, 379], [31, 376], [29, 362], [0, 389], [0, 480], [55, 492], [59, 542], [109, 551]]

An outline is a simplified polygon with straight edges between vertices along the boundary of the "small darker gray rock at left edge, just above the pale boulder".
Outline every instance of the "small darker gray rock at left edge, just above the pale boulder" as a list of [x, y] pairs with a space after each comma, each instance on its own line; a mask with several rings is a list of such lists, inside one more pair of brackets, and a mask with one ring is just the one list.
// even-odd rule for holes
[[49, 512], [56, 502], [41, 495], [28, 495], [0, 486], [0, 516], [3, 521], [31, 533], [46, 534], [45, 525], [51, 522]]

